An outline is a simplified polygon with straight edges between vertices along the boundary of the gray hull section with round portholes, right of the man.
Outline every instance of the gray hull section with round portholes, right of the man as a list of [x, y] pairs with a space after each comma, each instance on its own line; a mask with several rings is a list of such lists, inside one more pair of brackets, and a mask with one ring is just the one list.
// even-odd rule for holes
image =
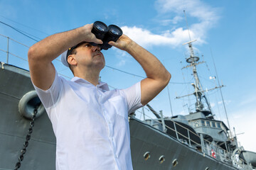
[[[235, 169], [233, 166], [203, 154], [196, 149], [182, 144], [178, 140], [164, 134], [140, 120], [130, 118], [132, 162], [134, 170], [156, 169]], [[150, 152], [151, 157], [144, 159], [144, 154]], [[160, 164], [159, 158], [164, 155], [165, 161]], [[178, 164], [173, 166], [174, 159]]]

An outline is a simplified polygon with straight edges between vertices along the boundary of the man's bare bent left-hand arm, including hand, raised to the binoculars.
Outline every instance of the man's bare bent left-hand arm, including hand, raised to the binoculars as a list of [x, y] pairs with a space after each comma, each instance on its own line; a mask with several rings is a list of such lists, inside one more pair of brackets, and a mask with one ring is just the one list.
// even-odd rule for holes
[[97, 39], [91, 33], [92, 26], [92, 24], [87, 24], [74, 30], [50, 35], [32, 45], [28, 50], [28, 65], [33, 84], [43, 90], [50, 88], [55, 78], [52, 61], [69, 47], [82, 41], [102, 43], [102, 40]]

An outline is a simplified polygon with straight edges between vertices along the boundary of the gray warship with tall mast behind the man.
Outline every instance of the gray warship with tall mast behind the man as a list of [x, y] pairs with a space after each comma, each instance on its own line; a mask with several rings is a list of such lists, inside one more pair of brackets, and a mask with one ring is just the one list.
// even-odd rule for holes
[[[9, 64], [9, 55], [18, 57], [9, 51], [9, 41], [23, 44], [5, 35], [1, 38], [6, 38], [7, 48], [0, 49], [1, 58], [6, 55], [6, 62], [0, 61], [0, 169], [55, 169], [55, 135], [29, 71]], [[147, 104], [156, 118], [146, 119], [143, 114], [141, 120], [135, 116], [137, 111], [129, 115], [134, 170], [255, 169], [256, 153], [240, 147], [229, 125], [216, 120], [211, 111], [198, 78], [200, 58], [192, 42], [184, 44], [190, 50], [186, 67], [193, 69], [195, 81], [194, 92], [186, 96], [196, 98], [195, 109], [187, 115], [164, 117]]]

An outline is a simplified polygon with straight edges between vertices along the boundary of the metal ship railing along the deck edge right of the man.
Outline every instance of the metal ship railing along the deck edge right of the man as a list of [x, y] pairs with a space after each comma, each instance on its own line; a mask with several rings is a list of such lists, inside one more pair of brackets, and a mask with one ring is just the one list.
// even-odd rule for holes
[[[137, 110], [138, 111], [138, 110]], [[142, 113], [141, 111], [138, 111], [139, 113]], [[245, 164], [245, 162], [236, 162], [235, 160], [231, 159], [230, 158], [230, 155], [231, 153], [228, 152], [227, 150], [223, 149], [222, 147], [216, 145], [214, 142], [210, 142], [206, 139], [203, 139], [203, 141], [201, 143], [198, 143], [194, 140], [191, 139], [190, 137], [190, 133], [193, 134], [193, 135], [196, 135], [197, 137], [201, 138], [200, 135], [198, 135], [197, 133], [189, 130], [188, 128], [184, 127], [183, 125], [179, 124], [179, 123], [176, 123], [174, 120], [171, 120], [171, 119], [168, 119], [168, 120], [171, 120], [172, 123], [174, 123], [174, 129], [169, 127], [168, 125], [166, 125], [164, 123], [164, 117], [163, 115], [160, 113], [159, 115], [161, 115], [161, 121], [158, 120], [158, 119], [153, 119], [151, 118], [149, 115], [143, 113], [147, 118], [149, 118], [149, 120], [154, 120], [156, 123], [160, 123], [160, 125], [163, 127], [162, 130], [164, 132], [166, 132], [165, 129], [169, 129], [169, 130], [172, 130], [173, 132], [175, 132], [176, 134], [176, 139], [181, 141], [182, 143], [186, 143], [184, 142], [184, 140], [181, 139], [181, 137], [185, 138], [186, 140], [188, 140], [188, 143], [186, 143], [189, 147], [201, 147], [201, 149], [197, 149], [199, 152], [202, 152], [203, 154], [208, 154], [210, 157], [213, 157], [214, 159], [218, 159], [219, 161], [221, 162], [225, 162], [226, 164], [230, 164], [230, 165], [234, 165], [236, 168], [238, 169], [242, 169], [243, 167], [243, 164]], [[163, 122], [163, 123], [162, 123]], [[183, 128], [184, 130], [187, 131], [188, 133], [188, 136], [182, 134], [181, 132], [178, 132], [176, 126], [179, 126], [181, 128]], [[192, 145], [193, 143], [193, 145]], [[206, 147], [203, 147], [203, 146], [206, 146]], [[212, 149], [213, 149], [213, 152], [212, 152]], [[215, 154], [215, 155], [214, 155]], [[242, 160], [240, 160], [242, 161]], [[235, 162], [235, 163], [234, 163]]]

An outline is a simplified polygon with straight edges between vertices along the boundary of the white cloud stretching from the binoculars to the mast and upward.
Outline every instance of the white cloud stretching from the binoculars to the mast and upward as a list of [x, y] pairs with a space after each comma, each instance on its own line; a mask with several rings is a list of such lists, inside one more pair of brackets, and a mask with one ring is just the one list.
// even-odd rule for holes
[[[197, 40], [197, 43], [205, 43], [207, 31], [212, 28], [218, 21], [218, 9], [212, 8], [199, 0], [159, 0], [156, 1], [156, 10], [159, 12], [158, 18], [165, 16], [159, 22], [162, 26], [167, 26], [170, 23], [176, 24], [182, 21], [183, 10], [186, 9], [186, 14], [196, 18], [197, 23], [191, 24], [190, 35], [193, 40]], [[166, 13], [174, 13], [174, 15], [166, 15]], [[170, 18], [166, 19], [166, 16]], [[171, 18], [172, 17], [172, 18]], [[186, 26], [184, 22], [183, 27]], [[166, 27], [168, 28], [168, 27]], [[183, 42], [188, 42], [188, 30], [183, 28], [171, 27], [172, 30], [164, 30], [160, 34], [152, 33], [150, 30], [139, 28], [137, 26], [128, 27], [123, 26], [122, 30], [124, 34], [128, 35], [132, 40], [139, 43], [143, 47], [149, 47], [152, 45], [171, 45], [171, 47], [178, 47]]]

